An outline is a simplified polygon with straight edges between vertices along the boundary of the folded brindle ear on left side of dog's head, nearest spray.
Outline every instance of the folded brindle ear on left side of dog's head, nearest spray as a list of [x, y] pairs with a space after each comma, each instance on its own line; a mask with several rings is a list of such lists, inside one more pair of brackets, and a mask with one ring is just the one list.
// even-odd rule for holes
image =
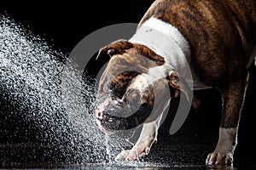
[[101, 48], [96, 59], [100, 59], [103, 55], [108, 55], [110, 58], [114, 54], [123, 54], [126, 49], [132, 48], [133, 44], [127, 40], [120, 39], [116, 42], [112, 42], [109, 45]]

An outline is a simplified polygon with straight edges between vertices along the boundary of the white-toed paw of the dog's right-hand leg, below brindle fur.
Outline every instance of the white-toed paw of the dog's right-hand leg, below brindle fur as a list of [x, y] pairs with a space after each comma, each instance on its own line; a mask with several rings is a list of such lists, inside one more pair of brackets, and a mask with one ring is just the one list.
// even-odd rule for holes
[[206, 164], [207, 165], [232, 165], [233, 154], [213, 152], [207, 156]]

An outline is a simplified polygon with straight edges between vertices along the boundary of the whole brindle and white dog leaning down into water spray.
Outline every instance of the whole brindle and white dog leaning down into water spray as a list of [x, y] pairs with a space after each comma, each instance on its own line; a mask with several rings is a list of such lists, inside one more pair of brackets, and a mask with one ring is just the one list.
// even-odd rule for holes
[[189, 90], [218, 88], [223, 101], [219, 139], [206, 164], [231, 165], [247, 67], [255, 56], [256, 1], [156, 0], [130, 40], [99, 50], [97, 59], [108, 57], [109, 62], [97, 92], [96, 123], [106, 133], [143, 124], [134, 147], [117, 156], [134, 161], [156, 142], [172, 98], [168, 87], [187, 95]]

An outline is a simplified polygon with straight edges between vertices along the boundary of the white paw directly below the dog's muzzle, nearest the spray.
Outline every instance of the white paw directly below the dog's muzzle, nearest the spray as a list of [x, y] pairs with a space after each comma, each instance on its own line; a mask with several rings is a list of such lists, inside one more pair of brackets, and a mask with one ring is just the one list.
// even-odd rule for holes
[[116, 156], [115, 160], [138, 161], [143, 156], [148, 155], [149, 151], [150, 148], [148, 147], [133, 147], [131, 150], [123, 150], [118, 156]]

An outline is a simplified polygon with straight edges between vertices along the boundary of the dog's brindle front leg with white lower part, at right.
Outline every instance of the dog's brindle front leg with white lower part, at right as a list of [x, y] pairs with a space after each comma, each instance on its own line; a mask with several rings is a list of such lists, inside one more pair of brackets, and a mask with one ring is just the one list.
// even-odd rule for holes
[[219, 128], [218, 144], [215, 150], [207, 156], [206, 163], [231, 165], [237, 144], [237, 130], [241, 109], [246, 93], [248, 75], [236, 82], [231, 82], [227, 88], [221, 89], [223, 98], [223, 113]]

